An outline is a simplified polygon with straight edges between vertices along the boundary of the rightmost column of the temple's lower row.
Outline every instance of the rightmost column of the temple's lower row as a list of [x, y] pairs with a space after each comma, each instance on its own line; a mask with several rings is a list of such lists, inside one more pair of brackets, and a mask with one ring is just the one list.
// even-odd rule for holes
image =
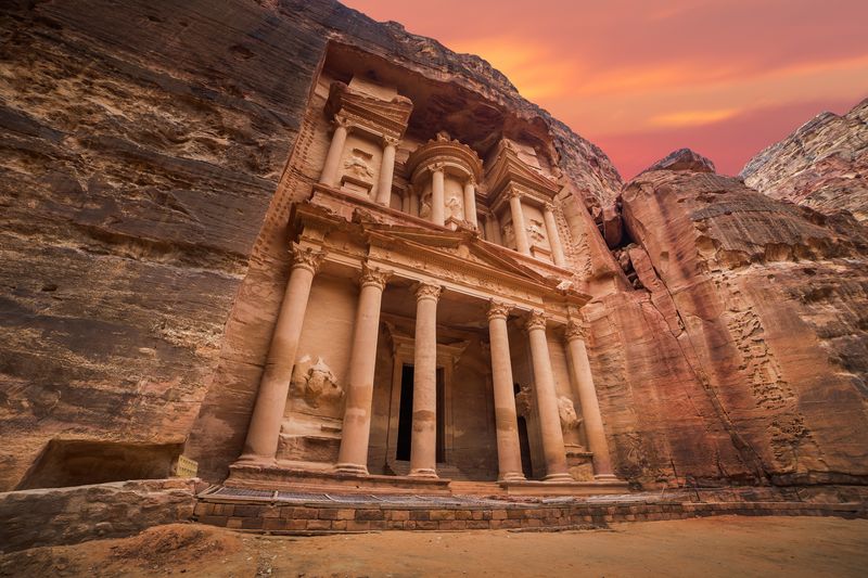
[[593, 377], [590, 373], [588, 351], [585, 348], [585, 332], [582, 325], [571, 320], [566, 325], [565, 335], [566, 349], [570, 354], [570, 363], [573, 370], [573, 381], [578, 390], [578, 402], [582, 404], [582, 418], [585, 422], [588, 449], [593, 452], [593, 477], [597, 479], [615, 479], [612, 471], [612, 461], [609, 457], [609, 442], [605, 440], [605, 432], [603, 431], [600, 404], [597, 401], [597, 389], [593, 387]]

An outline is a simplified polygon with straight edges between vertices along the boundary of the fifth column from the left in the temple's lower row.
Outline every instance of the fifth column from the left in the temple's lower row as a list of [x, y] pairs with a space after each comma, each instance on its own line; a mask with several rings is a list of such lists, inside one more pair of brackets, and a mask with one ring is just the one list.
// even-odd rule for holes
[[542, 453], [546, 459], [546, 481], [572, 481], [566, 470], [563, 431], [558, 412], [554, 373], [551, 370], [549, 344], [546, 339], [546, 317], [542, 311], [532, 311], [527, 318], [527, 338], [534, 364], [534, 390], [539, 412], [539, 431], [542, 434]]

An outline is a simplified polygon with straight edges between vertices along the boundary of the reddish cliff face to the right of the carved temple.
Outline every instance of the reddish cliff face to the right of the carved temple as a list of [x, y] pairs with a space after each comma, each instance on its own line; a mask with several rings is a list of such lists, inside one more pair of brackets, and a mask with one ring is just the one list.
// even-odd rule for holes
[[710, 174], [623, 200], [647, 291], [587, 308], [620, 473], [864, 484], [866, 230]]

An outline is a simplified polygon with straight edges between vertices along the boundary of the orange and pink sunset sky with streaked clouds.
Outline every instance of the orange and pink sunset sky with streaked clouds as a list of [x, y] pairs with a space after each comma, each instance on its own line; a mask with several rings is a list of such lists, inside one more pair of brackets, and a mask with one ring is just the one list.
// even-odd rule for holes
[[868, 97], [868, 0], [346, 0], [478, 54], [625, 178], [689, 146], [736, 175]]

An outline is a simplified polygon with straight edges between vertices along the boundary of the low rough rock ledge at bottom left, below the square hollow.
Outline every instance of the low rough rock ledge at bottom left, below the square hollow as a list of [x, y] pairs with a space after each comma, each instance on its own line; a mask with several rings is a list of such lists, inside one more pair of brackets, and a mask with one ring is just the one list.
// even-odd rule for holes
[[0, 493], [0, 551], [122, 538], [193, 516], [196, 479], [142, 479]]

